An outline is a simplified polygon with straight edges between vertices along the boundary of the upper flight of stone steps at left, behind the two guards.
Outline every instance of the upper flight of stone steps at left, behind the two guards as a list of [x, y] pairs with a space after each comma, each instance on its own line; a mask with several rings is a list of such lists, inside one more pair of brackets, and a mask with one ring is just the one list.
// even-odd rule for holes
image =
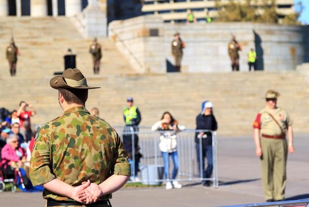
[[[77, 54], [77, 68], [86, 75], [93, 74], [89, 45], [92, 40], [83, 39], [67, 17], [1, 17], [0, 18], [0, 76], [9, 77], [5, 48], [14, 34], [20, 50], [17, 77], [42, 78], [63, 71], [63, 55], [67, 48]], [[103, 47], [102, 73], [132, 73], [129, 64], [108, 39], [98, 40]]]

